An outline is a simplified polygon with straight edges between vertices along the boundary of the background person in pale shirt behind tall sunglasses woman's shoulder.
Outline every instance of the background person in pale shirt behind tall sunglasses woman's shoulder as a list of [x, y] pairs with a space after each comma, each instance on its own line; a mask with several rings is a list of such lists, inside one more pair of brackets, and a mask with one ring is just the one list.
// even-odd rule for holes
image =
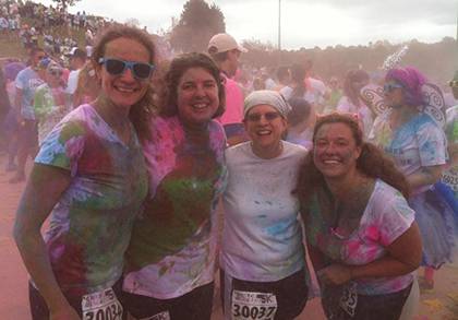
[[[41, 60], [40, 64], [44, 63]], [[34, 96], [35, 117], [38, 121], [38, 145], [52, 128], [70, 111], [65, 106], [65, 93], [62, 86], [62, 67], [48, 59], [43, 64], [45, 83], [37, 87]]]

